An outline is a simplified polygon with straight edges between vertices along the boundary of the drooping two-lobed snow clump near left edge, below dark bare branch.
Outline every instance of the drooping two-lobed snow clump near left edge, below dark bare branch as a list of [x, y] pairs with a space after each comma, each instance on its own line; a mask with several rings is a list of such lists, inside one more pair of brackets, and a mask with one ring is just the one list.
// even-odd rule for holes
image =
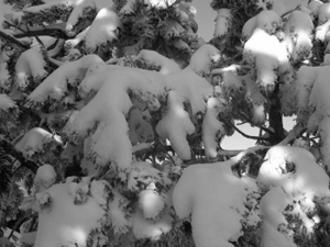
[[46, 63], [43, 58], [41, 45], [34, 46], [21, 54], [15, 64], [15, 85], [18, 88], [26, 88], [29, 86], [29, 77], [33, 77], [34, 81], [41, 81], [47, 76], [44, 69]]

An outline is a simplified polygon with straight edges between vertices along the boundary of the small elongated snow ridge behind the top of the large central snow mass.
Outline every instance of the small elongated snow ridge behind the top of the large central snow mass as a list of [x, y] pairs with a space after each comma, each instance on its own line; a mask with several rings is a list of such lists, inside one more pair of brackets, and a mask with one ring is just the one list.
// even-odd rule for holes
[[133, 57], [133, 59], [141, 59], [148, 65], [160, 66], [160, 74], [163, 75], [168, 75], [182, 70], [178, 64], [176, 64], [174, 60], [154, 50], [142, 49], [136, 57]]

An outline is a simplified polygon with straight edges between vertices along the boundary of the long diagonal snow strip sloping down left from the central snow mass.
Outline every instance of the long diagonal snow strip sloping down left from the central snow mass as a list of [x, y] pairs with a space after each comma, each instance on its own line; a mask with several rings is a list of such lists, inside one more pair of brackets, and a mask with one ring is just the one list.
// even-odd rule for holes
[[75, 61], [67, 61], [53, 71], [28, 97], [28, 105], [45, 103], [46, 100], [61, 101], [67, 92], [67, 86], [75, 87], [84, 79], [87, 69], [92, 64], [101, 64], [102, 59], [97, 55], [87, 55]]

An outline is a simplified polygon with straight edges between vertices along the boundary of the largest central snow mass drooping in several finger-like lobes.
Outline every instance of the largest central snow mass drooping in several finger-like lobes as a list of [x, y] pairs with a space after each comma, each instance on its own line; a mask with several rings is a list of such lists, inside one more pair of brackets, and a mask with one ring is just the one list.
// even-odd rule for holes
[[[128, 168], [132, 160], [132, 145], [125, 116], [133, 106], [128, 91], [145, 102], [148, 110], [154, 111], [161, 105], [157, 97], [164, 96], [165, 90], [170, 89], [173, 92], [169, 93], [169, 109], [165, 119], [158, 123], [158, 126], [162, 125], [158, 130], [164, 138], [168, 137], [174, 143], [180, 139], [174, 145], [175, 150], [184, 150], [183, 155], [188, 158], [188, 146], [185, 144], [187, 141], [184, 137], [193, 133], [194, 125], [183, 108], [183, 102], [190, 104], [193, 115], [202, 113], [206, 111], [205, 101], [212, 91], [211, 85], [190, 68], [164, 76], [155, 71], [113, 65], [90, 67], [79, 86], [79, 93], [81, 97], [91, 91], [97, 94], [68, 124], [66, 133], [73, 141], [78, 141], [99, 123], [92, 137], [90, 156], [99, 165], [113, 161], [121, 168]], [[185, 119], [186, 122], [173, 121], [175, 117]], [[169, 124], [164, 124], [169, 120]], [[180, 128], [176, 128], [177, 126]]]

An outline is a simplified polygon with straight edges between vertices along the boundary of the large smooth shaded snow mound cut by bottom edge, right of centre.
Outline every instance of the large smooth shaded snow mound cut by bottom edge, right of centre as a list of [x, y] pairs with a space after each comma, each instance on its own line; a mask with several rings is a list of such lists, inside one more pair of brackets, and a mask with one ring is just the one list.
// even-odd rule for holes
[[233, 176], [231, 165], [229, 160], [190, 166], [174, 188], [174, 209], [179, 218], [191, 214], [197, 247], [232, 247], [229, 240], [242, 234], [246, 184]]

